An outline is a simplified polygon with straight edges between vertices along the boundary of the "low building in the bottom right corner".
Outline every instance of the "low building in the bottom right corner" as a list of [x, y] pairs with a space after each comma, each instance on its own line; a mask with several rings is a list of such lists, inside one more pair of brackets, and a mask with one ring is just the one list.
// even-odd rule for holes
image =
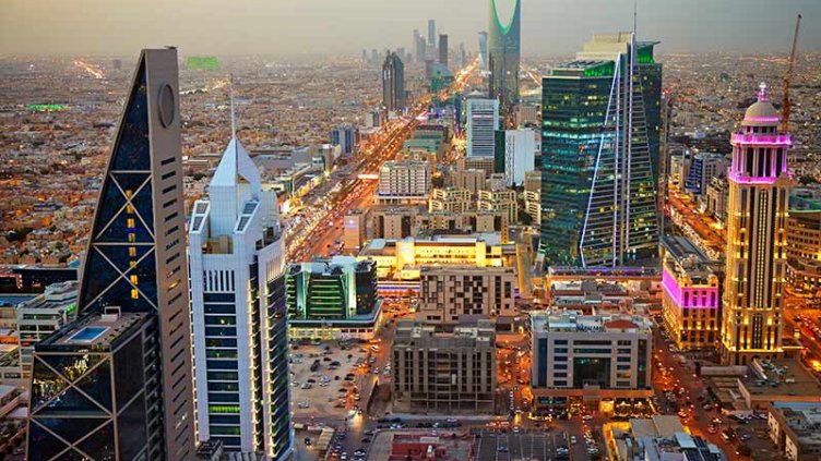
[[821, 458], [821, 403], [773, 402], [768, 414], [770, 439], [786, 461]]

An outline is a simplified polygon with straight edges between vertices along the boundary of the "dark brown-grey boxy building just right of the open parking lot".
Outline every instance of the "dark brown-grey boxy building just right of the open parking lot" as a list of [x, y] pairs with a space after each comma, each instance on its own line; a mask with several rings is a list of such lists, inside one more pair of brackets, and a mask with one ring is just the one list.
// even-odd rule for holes
[[432, 326], [400, 320], [391, 347], [395, 411], [457, 414], [492, 412], [496, 331], [478, 320], [437, 333]]

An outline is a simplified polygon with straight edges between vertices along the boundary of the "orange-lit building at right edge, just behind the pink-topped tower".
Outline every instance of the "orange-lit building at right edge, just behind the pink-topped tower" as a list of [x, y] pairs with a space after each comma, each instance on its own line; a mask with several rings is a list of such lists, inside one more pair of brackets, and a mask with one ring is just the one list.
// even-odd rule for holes
[[821, 210], [789, 210], [787, 284], [810, 296], [821, 289]]

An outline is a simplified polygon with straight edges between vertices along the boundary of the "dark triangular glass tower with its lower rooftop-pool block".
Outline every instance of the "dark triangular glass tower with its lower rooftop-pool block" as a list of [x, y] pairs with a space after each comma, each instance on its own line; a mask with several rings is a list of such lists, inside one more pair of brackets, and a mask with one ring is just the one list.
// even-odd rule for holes
[[177, 51], [143, 50], [92, 222], [78, 319], [35, 348], [27, 458], [194, 457]]

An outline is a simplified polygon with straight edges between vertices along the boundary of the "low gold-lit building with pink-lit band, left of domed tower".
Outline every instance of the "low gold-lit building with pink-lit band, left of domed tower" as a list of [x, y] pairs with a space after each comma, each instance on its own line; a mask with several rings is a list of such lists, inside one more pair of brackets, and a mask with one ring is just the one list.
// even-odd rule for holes
[[683, 236], [665, 235], [662, 247], [662, 312], [667, 333], [682, 351], [714, 350], [722, 323], [715, 262]]

